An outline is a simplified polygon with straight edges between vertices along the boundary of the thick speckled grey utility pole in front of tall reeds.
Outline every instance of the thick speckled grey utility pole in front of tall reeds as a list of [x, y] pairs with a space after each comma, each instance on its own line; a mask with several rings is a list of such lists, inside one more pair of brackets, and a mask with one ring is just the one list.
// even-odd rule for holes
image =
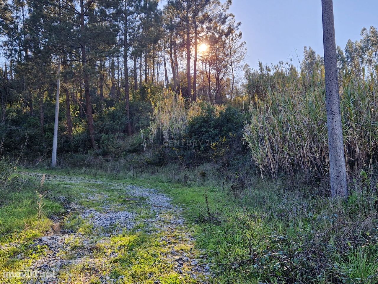
[[322, 16], [331, 196], [333, 198], [346, 199], [348, 197], [348, 189], [342, 137], [332, 0], [322, 0]]

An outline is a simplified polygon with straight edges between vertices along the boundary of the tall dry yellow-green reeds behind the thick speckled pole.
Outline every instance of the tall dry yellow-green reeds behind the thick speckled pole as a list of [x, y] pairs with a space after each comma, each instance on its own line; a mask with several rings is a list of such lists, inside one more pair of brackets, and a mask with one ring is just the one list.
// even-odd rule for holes
[[[323, 75], [322, 75], [323, 76]], [[280, 172], [328, 173], [328, 133], [324, 78], [310, 83], [298, 78], [266, 88], [245, 123], [244, 141], [260, 174]], [[288, 76], [288, 78], [291, 78]], [[344, 75], [341, 86], [342, 128], [347, 171], [354, 175], [376, 159], [378, 87], [373, 77], [353, 81]], [[272, 91], [273, 90], [273, 91]]]

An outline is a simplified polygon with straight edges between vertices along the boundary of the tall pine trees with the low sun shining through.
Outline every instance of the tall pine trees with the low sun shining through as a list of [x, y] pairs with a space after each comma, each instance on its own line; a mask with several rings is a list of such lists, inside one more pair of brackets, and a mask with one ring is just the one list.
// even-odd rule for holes
[[[61, 62], [67, 134], [72, 115], [87, 120], [121, 102], [130, 125], [130, 99], [146, 86], [219, 104], [234, 96], [245, 43], [231, 1], [12, 0], [2, 2], [2, 115], [9, 108], [39, 116], [53, 100]], [[202, 48], [201, 48], [202, 47]], [[95, 104], [95, 109], [93, 105]], [[37, 111], [36, 111], [37, 109]]]

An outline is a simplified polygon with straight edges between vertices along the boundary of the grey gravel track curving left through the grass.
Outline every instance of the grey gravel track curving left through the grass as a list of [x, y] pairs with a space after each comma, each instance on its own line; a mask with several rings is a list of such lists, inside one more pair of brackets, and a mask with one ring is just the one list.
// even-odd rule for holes
[[[39, 174], [31, 175], [40, 176]], [[171, 264], [172, 272], [178, 273], [180, 277], [189, 276], [194, 283], [208, 283], [213, 277], [211, 263], [206, 260], [206, 256], [200, 255], [201, 250], [194, 250], [195, 239], [185, 225], [182, 217], [183, 209], [174, 206], [170, 198], [158, 190], [70, 176], [46, 176], [46, 181], [84, 185], [100, 184], [102, 187], [114, 190], [119, 198], [116, 198], [116, 202], [110, 202], [108, 195], [102, 193], [101, 190], [88, 187], [87, 192], [81, 193], [82, 200], [102, 204], [100, 210], [86, 208], [80, 205], [78, 200], [68, 202], [65, 197], [57, 197], [57, 200], [65, 203], [67, 212], [79, 216], [90, 225], [93, 232], [88, 235], [67, 229], [62, 230], [59, 225], [62, 224], [62, 218], [57, 218], [54, 228], [32, 245], [34, 248], [38, 246], [47, 248], [42, 257], [33, 260], [30, 267], [25, 268], [25, 270], [36, 272], [35, 275], [31, 273], [32, 275], [25, 283], [91, 283], [94, 277], [101, 283], [122, 283], [122, 275], [112, 278], [110, 273], [115, 265], [112, 259], [118, 257], [118, 254], [112, 251], [109, 240], [112, 236], [127, 231], [140, 230], [147, 234], [160, 233], [159, 236], [163, 234], [163, 237], [157, 240], [166, 248], [160, 258]], [[128, 196], [126, 200], [136, 201], [133, 206], [128, 208], [127, 204], [122, 203], [124, 196]], [[146, 211], [147, 214], [143, 214]], [[70, 225], [70, 220], [65, 222]], [[174, 239], [172, 239], [173, 234]], [[109, 247], [108, 253], [102, 256], [101, 261], [95, 253], [99, 245]], [[196, 255], [199, 257], [196, 258]], [[20, 259], [24, 257], [18, 256]], [[85, 266], [79, 280], [70, 276], [70, 272], [76, 269], [77, 265]], [[104, 274], [104, 271], [109, 273]], [[151, 277], [154, 276], [151, 275]], [[153, 283], [159, 284], [159, 278], [156, 278]]]

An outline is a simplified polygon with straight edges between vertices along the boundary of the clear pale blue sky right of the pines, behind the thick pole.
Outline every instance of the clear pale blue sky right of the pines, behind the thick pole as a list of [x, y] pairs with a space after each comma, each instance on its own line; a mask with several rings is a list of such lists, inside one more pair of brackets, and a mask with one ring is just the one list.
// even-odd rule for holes
[[[378, 0], [333, 0], [336, 45], [361, 38], [363, 27], [378, 28]], [[321, 0], [232, 0], [231, 12], [242, 22], [246, 63], [257, 67], [302, 58], [304, 46], [323, 55]], [[295, 62], [294, 62], [295, 61]]]

